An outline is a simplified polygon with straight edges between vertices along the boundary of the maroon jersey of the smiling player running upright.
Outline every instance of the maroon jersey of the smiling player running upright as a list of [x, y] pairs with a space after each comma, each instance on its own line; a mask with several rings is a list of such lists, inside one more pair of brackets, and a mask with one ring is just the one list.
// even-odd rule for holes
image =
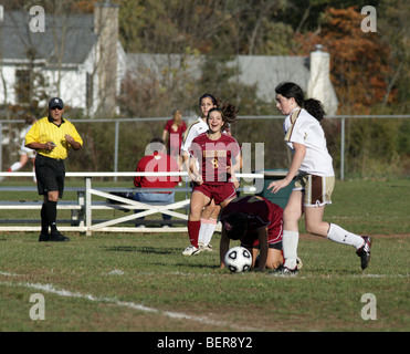
[[198, 159], [203, 183], [224, 184], [230, 181], [227, 167], [235, 163], [240, 154], [238, 142], [227, 134], [218, 140], [211, 140], [207, 133], [198, 135], [190, 147], [190, 153]]

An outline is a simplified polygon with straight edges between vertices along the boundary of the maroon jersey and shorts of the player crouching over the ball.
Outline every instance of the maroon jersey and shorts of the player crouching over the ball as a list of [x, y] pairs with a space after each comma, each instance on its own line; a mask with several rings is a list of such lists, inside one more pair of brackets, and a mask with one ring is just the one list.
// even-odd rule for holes
[[257, 240], [257, 230], [267, 227], [269, 243], [282, 241], [283, 209], [272, 201], [259, 197], [246, 196], [236, 198], [222, 210], [221, 221], [228, 215], [242, 212], [250, 217], [246, 235], [241, 239], [241, 242], [246, 246], [254, 244]]

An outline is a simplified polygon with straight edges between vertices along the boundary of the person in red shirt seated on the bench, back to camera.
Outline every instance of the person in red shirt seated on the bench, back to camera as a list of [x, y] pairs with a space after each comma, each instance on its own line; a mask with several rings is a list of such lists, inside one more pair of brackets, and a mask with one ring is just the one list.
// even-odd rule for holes
[[[150, 155], [144, 156], [137, 165], [137, 173], [158, 173], [158, 171], [179, 171], [178, 163], [167, 155], [167, 148], [161, 138], [153, 138], [148, 148]], [[174, 188], [180, 181], [179, 176], [136, 176], [134, 178], [134, 186], [137, 188]], [[160, 202], [172, 204], [175, 201], [174, 191], [137, 191], [134, 195], [134, 200], [140, 202]], [[141, 210], [135, 210], [139, 212]], [[143, 220], [144, 217], [137, 220]], [[170, 220], [171, 216], [162, 214], [164, 220]], [[144, 227], [143, 225], [136, 225]], [[164, 223], [164, 226], [170, 226]]]

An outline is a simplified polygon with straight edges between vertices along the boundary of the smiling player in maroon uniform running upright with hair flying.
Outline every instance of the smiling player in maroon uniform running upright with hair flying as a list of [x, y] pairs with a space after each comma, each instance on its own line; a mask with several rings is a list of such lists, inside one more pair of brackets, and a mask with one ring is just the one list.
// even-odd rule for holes
[[[222, 134], [225, 125], [236, 119], [236, 108], [230, 103], [225, 103], [222, 108], [210, 110], [207, 116], [208, 132], [200, 134], [192, 140], [189, 168], [195, 186], [188, 219], [191, 244], [182, 252], [183, 256], [193, 256], [200, 252], [198, 236], [202, 209], [212, 199], [215, 205], [223, 208], [236, 196], [233, 183], [236, 180], [234, 173], [240, 169], [241, 149], [232, 136]], [[199, 170], [197, 162], [200, 166]]]

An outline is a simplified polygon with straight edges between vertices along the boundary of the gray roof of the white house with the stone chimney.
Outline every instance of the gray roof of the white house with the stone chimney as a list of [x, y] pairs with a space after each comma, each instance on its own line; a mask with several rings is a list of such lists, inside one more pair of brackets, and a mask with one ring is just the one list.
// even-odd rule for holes
[[80, 64], [97, 41], [92, 14], [45, 14], [45, 32], [30, 31], [32, 18], [23, 11], [4, 12], [3, 22], [0, 22], [0, 48], [4, 62], [24, 62], [29, 59], [28, 50], [32, 50], [36, 60], [45, 60], [49, 64], [57, 62], [60, 51], [63, 52], [63, 64]]

